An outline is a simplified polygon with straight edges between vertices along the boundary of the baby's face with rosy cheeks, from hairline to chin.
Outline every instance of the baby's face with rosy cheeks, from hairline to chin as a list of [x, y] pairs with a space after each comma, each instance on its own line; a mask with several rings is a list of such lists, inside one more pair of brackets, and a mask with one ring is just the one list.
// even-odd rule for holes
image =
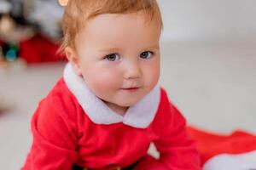
[[160, 77], [160, 26], [144, 15], [100, 14], [76, 39], [77, 74], [110, 105], [135, 105]]

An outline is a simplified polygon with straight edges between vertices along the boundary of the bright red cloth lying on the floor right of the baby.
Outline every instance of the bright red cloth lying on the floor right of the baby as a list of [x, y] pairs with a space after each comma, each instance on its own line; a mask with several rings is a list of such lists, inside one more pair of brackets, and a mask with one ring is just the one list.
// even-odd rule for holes
[[197, 149], [201, 154], [201, 163], [219, 154], [240, 154], [256, 150], [256, 136], [243, 131], [229, 135], [208, 133], [195, 127], [188, 127], [192, 139], [195, 139]]

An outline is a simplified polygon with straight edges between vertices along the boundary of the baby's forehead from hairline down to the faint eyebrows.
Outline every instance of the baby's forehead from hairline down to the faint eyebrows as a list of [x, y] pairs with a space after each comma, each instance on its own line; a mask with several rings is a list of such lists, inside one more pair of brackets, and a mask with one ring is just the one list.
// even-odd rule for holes
[[143, 14], [101, 14], [84, 26], [76, 43], [79, 49], [102, 53], [158, 49], [160, 27], [154, 22], [145, 22]]

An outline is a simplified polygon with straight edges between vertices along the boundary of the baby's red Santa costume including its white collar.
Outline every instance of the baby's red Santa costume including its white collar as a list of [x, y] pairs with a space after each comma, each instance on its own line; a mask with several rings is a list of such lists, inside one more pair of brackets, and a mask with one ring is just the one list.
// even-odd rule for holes
[[[185, 124], [159, 86], [120, 116], [67, 65], [32, 117], [32, 148], [21, 169], [125, 168], [137, 162], [133, 169], [198, 170], [199, 154]], [[147, 155], [151, 142], [159, 159]]]

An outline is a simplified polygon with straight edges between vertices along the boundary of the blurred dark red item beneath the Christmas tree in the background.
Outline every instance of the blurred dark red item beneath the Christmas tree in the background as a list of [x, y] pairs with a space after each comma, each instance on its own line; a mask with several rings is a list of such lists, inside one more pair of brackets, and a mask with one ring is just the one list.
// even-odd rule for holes
[[27, 63], [41, 63], [58, 60], [66, 60], [63, 54], [57, 54], [59, 45], [48, 38], [36, 35], [31, 39], [20, 42], [21, 58]]

